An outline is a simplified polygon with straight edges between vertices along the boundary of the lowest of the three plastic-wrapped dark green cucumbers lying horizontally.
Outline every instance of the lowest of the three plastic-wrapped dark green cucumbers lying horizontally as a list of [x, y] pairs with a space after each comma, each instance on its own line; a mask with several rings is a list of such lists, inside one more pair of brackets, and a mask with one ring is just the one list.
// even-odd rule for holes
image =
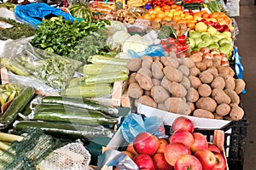
[[88, 126], [71, 124], [67, 122], [38, 122], [21, 121], [15, 124], [17, 131], [24, 131], [27, 128], [40, 128], [44, 133], [71, 139], [93, 139], [97, 136], [111, 137], [113, 132], [110, 128], [103, 126]]

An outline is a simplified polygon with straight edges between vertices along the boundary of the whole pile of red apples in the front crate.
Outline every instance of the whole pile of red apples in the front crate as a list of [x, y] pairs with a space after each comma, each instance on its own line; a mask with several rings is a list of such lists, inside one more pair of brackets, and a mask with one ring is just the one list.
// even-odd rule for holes
[[174, 133], [158, 139], [151, 133], [139, 133], [124, 151], [139, 169], [148, 170], [225, 170], [226, 161], [214, 144], [202, 133], [194, 132], [193, 123], [178, 117], [172, 124]]

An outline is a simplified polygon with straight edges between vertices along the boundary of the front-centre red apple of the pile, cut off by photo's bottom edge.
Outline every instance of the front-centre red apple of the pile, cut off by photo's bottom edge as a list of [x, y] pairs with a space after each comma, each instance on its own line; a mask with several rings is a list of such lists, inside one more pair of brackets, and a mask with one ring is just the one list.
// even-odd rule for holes
[[202, 170], [201, 162], [191, 155], [180, 156], [175, 162], [175, 170]]

